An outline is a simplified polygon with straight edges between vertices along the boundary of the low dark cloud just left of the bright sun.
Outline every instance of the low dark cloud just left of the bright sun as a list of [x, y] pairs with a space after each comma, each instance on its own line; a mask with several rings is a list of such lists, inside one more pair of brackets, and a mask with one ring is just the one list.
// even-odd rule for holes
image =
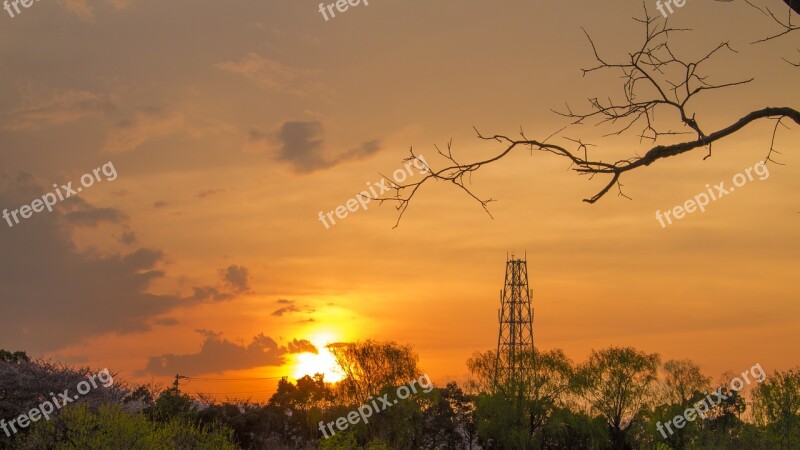
[[250, 344], [240, 345], [224, 339], [220, 333], [207, 330], [197, 332], [205, 337], [199, 352], [151, 356], [145, 372], [170, 376], [176, 373], [189, 376], [218, 374], [229, 370], [281, 366], [286, 363], [286, 355], [290, 353], [317, 353], [316, 347], [307, 340], [294, 339], [288, 347], [279, 347], [275, 340], [261, 333], [253, 337]]

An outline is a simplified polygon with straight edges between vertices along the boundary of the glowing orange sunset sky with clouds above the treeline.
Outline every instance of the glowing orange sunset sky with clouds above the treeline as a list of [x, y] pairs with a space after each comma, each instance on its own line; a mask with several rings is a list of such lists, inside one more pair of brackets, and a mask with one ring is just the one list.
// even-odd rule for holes
[[[761, 0], [785, 11], [779, 0]], [[784, 8], [781, 8], [784, 6]], [[335, 210], [402, 168], [434, 168], [544, 139], [551, 112], [620, 98], [581, 28], [610, 60], [641, 45], [639, 2], [371, 0], [325, 21], [311, 1], [57, 0], [0, 11], [0, 208], [17, 209], [111, 161], [118, 174], [13, 227], [0, 221], [0, 348], [108, 367], [130, 382], [265, 400], [274, 380], [330, 362], [327, 343], [413, 345], [436, 383], [497, 342], [507, 255], [527, 255], [536, 344], [573, 361], [633, 345], [691, 358], [714, 379], [800, 363], [800, 129], [785, 165], [662, 228], [683, 204], [762, 161], [774, 121], [626, 174], [630, 200], [581, 200], [604, 179], [520, 149], [473, 176], [493, 219], [463, 191], [424, 186], [399, 226], [373, 203]], [[654, 1], [647, 11], [660, 15]], [[795, 17], [795, 20], [797, 17]], [[800, 106], [800, 34], [744, 1], [689, 0], [674, 46], [711, 81], [755, 77], [691, 105], [709, 130], [766, 106]], [[671, 119], [664, 115], [665, 123]], [[681, 130], [681, 131], [686, 131]], [[568, 128], [615, 161], [639, 129]], [[564, 145], [569, 141], [554, 138]], [[674, 142], [667, 139], [665, 143]], [[412, 180], [422, 175], [415, 174]], [[312, 347], [313, 346], [313, 347]], [[307, 352], [316, 348], [320, 355]]]

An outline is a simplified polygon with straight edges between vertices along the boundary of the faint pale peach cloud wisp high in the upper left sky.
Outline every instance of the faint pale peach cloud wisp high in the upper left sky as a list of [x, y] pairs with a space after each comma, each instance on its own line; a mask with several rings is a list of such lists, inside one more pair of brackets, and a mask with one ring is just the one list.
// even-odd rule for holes
[[308, 78], [314, 72], [287, 66], [274, 59], [264, 58], [257, 53], [248, 53], [239, 61], [217, 64], [216, 68], [241, 75], [261, 88], [289, 92], [295, 95], [308, 95], [311, 83]]

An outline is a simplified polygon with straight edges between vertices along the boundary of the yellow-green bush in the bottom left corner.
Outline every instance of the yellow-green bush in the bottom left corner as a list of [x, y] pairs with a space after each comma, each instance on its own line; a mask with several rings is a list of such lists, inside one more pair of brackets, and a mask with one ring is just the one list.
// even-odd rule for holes
[[233, 450], [231, 432], [206, 429], [181, 419], [154, 423], [143, 414], [128, 413], [119, 405], [103, 405], [93, 412], [86, 405], [68, 406], [50, 421], [35, 423], [20, 449], [156, 449]]

